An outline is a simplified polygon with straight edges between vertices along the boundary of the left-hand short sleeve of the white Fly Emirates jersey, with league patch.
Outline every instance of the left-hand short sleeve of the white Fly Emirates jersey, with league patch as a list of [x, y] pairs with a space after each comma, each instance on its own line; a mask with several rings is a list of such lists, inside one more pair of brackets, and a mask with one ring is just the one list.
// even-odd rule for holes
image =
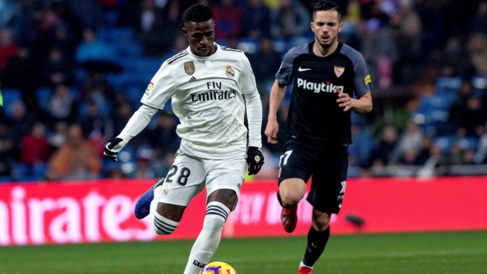
[[176, 92], [174, 73], [170, 71], [170, 65], [164, 62], [150, 80], [140, 102], [149, 107], [162, 110], [169, 98]]

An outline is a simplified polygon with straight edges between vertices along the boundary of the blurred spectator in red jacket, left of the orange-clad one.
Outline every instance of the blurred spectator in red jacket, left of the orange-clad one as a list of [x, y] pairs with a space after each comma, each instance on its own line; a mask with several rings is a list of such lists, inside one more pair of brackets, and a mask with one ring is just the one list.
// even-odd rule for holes
[[22, 138], [20, 158], [25, 164], [34, 165], [47, 162], [50, 146], [46, 137], [46, 127], [42, 123], [35, 123], [32, 130]]

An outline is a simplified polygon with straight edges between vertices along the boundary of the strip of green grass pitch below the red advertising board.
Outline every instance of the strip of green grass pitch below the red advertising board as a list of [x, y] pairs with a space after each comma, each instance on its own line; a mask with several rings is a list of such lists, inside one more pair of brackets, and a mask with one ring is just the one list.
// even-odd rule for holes
[[[296, 274], [305, 237], [222, 239], [239, 274]], [[182, 274], [193, 240], [0, 247], [0, 274]], [[315, 274], [487, 274], [487, 231], [330, 237]]]

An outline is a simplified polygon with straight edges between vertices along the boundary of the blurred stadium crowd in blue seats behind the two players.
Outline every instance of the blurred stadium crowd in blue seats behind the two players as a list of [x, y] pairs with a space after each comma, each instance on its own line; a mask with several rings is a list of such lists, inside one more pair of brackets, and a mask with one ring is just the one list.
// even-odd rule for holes
[[[103, 146], [161, 63], [187, 47], [181, 16], [194, 2], [0, 0], [0, 182], [165, 176], [180, 141], [169, 104], [119, 162]], [[215, 41], [247, 54], [266, 112], [281, 57], [313, 39], [315, 1], [199, 2], [212, 7]], [[350, 176], [487, 164], [487, 0], [337, 3], [340, 40], [364, 55], [373, 79], [374, 110], [353, 114]], [[283, 129], [286, 109], [279, 114]], [[258, 177], [277, 178], [284, 134], [263, 142]]]

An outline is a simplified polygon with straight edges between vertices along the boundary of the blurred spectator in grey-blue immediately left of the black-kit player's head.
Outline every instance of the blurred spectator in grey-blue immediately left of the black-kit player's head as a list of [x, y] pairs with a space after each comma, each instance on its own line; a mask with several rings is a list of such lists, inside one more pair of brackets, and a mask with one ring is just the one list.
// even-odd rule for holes
[[273, 37], [291, 39], [310, 31], [311, 16], [298, 0], [282, 0], [273, 11], [271, 33]]

